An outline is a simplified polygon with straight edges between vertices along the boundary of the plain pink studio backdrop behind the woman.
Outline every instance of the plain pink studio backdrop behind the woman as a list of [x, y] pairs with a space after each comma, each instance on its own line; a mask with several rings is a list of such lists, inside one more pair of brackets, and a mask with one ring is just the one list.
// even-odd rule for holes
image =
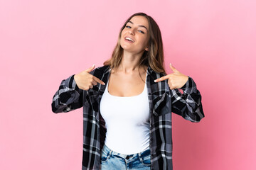
[[136, 12], [161, 29], [166, 70], [191, 76], [206, 115], [173, 114], [174, 170], [256, 169], [255, 1], [0, 1], [0, 169], [82, 164], [82, 108], [51, 111], [63, 79], [112, 54]]

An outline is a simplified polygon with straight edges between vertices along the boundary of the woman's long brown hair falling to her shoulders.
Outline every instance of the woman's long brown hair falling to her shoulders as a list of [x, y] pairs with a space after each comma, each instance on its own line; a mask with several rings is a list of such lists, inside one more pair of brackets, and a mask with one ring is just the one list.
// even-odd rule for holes
[[164, 69], [164, 49], [161, 38], [161, 31], [156, 21], [154, 21], [151, 16], [146, 15], [146, 13], [134, 13], [127, 19], [127, 21], [125, 21], [124, 25], [120, 29], [117, 45], [114, 47], [112, 57], [109, 60], [105, 61], [104, 65], [110, 66], [111, 69], [117, 69], [117, 67], [121, 63], [123, 54], [123, 48], [120, 45], [122, 30], [134, 16], [144, 16], [149, 22], [149, 50], [144, 51], [141, 59], [139, 60], [139, 67], [143, 65], [149, 66], [155, 72], [166, 74]]

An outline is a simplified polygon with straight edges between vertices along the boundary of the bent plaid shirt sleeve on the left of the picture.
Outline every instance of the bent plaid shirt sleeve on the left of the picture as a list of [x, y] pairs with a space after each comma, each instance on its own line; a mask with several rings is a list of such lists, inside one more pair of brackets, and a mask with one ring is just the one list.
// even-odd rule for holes
[[82, 107], [84, 90], [75, 83], [75, 74], [61, 81], [52, 101], [53, 113], [69, 112]]

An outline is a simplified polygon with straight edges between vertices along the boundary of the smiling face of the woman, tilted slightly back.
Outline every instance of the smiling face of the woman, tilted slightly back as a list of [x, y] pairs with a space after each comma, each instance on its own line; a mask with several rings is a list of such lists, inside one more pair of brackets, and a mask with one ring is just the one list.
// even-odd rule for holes
[[144, 16], [134, 16], [121, 33], [120, 44], [127, 52], [139, 53], [148, 50], [149, 23]]

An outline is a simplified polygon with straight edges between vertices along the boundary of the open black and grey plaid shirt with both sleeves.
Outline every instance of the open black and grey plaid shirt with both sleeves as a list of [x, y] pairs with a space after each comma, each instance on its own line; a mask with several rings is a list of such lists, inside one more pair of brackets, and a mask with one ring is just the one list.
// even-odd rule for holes
[[[154, 82], [164, 74], [154, 72], [148, 67], [146, 86], [150, 107], [150, 150], [151, 169], [172, 170], [172, 132], [171, 112], [181, 115], [191, 122], [199, 122], [205, 115], [201, 103], [201, 94], [191, 77], [178, 89], [171, 90], [168, 80]], [[90, 74], [107, 82], [110, 67], [94, 69]], [[53, 96], [53, 113], [65, 113], [83, 106], [83, 152], [82, 170], [100, 169], [100, 152], [105, 142], [107, 129], [100, 114], [100, 100], [105, 91], [102, 84], [93, 86], [88, 91], [79, 89], [74, 75], [61, 81], [58, 91]]]

